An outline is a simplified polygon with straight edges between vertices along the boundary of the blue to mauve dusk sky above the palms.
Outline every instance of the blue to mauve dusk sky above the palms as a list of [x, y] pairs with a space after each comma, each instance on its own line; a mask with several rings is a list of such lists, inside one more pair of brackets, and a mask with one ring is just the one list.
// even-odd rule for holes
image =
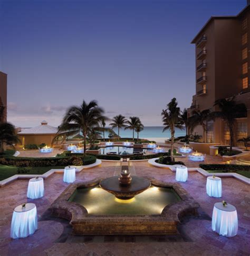
[[211, 15], [236, 15], [246, 0], [0, 0], [0, 71], [8, 121], [57, 126], [66, 108], [97, 99], [106, 115], [161, 125], [176, 97], [195, 94], [195, 45]]

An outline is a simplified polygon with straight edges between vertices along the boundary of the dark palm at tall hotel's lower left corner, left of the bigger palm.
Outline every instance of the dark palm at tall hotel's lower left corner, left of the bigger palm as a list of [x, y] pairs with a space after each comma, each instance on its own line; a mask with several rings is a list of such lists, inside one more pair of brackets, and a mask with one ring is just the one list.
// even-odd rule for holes
[[204, 109], [203, 111], [193, 111], [192, 116], [189, 117], [189, 126], [191, 131], [195, 129], [196, 126], [201, 125], [203, 129], [203, 142], [206, 142], [206, 132], [207, 132], [207, 121], [211, 119], [210, 110]]

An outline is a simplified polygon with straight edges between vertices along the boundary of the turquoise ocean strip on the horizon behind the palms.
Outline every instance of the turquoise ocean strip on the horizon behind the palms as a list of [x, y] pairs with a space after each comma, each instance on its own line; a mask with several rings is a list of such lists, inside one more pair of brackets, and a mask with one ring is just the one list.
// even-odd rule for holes
[[[164, 142], [166, 139], [170, 138], [170, 131], [166, 130], [165, 132], [162, 132], [164, 126], [145, 126], [144, 130], [139, 133], [140, 139], [148, 139], [148, 140], [154, 140], [156, 142]], [[118, 134], [118, 129], [114, 128], [114, 132]], [[109, 133], [105, 133], [105, 138], [108, 138]], [[186, 131], [176, 129], [175, 130], [175, 137], [178, 136], [185, 136]], [[132, 138], [133, 132], [132, 130], [124, 130], [120, 129], [120, 136], [122, 138]], [[134, 137], [137, 138], [137, 133], [134, 132]]]

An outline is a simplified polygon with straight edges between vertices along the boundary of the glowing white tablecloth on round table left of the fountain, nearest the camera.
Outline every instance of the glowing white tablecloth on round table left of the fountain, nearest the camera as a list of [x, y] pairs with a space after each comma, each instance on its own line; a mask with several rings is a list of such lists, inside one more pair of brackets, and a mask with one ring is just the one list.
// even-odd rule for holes
[[13, 239], [26, 237], [35, 233], [37, 229], [36, 206], [27, 203], [25, 208], [18, 205], [13, 212], [11, 221], [11, 237]]

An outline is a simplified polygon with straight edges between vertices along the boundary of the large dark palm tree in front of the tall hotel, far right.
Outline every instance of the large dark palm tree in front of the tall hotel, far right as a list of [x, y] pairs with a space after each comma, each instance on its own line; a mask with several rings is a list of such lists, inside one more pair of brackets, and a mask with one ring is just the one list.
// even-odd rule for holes
[[232, 152], [235, 121], [237, 117], [246, 116], [246, 105], [244, 103], [237, 104], [234, 97], [230, 99], [218, 99], [214, 105], [218, 106], [220, 111], [214, 111], [211, 113], [211, 116], [213, 118], [220, 118], [226, 123], [230, 133], [229, 151]]

